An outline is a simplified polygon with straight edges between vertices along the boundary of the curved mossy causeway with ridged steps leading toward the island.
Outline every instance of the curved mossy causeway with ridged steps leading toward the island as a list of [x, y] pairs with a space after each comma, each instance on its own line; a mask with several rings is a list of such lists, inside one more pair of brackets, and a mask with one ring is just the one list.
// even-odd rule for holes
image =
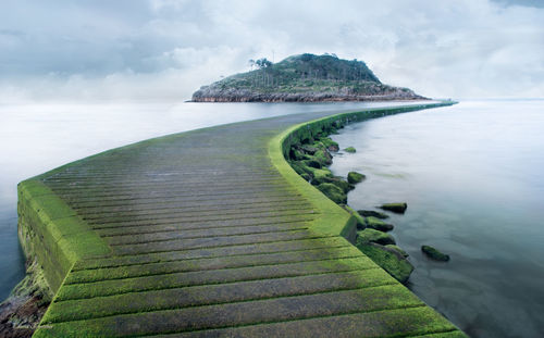
[[327, 123], [443, 104], [199, 129], [21, 183], [21, 241], [55, 293], [34, 337], [465, 337], [283, 159]]

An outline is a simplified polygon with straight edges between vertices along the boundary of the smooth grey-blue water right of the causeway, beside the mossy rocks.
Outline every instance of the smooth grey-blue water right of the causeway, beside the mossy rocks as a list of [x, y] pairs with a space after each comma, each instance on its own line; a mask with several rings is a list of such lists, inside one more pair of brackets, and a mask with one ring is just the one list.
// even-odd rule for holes
[[[346, 127], [355, 209], [406, 201], [409, 287], [473, 337], [544, 337], [544, 101], [461, 102]], [[421, 245], [452, 256], [428, 260]]]

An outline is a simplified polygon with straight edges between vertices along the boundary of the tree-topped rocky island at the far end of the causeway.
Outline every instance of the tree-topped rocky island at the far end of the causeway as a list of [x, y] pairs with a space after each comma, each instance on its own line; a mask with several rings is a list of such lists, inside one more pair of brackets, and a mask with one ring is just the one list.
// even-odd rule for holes
[[[251, 71], [202, 86], [193, 102], [333, 102], [425, 100], [408, 88], [382, 84], [362, 61], [335, 54], [249, 61]], [[252, 70], [256, 67], [256, 70]]]

